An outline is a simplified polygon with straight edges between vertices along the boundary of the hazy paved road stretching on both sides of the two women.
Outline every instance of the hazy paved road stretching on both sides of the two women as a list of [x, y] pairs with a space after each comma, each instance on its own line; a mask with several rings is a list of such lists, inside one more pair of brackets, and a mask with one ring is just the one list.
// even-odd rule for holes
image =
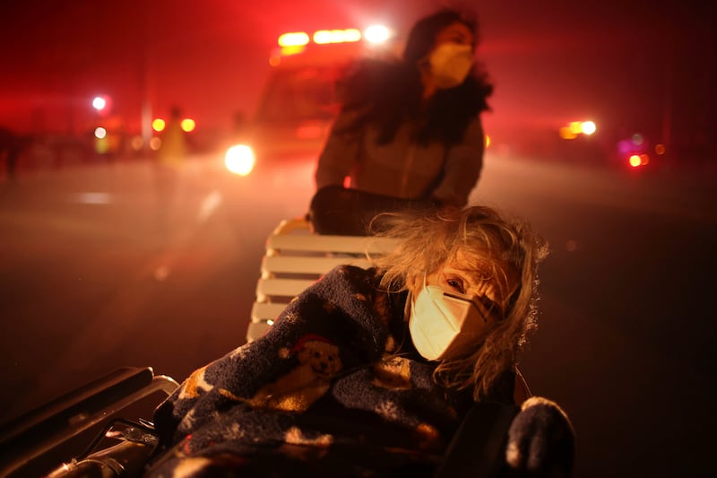
[[[182, 379], [243, 343], [263, 240], [306, 211], [311, 173], [196, 158], [168, 211], [142, 161], [0, 184], [0, 422], [119, 366]], [[523, 370], [570, 413], [576, 476], [717, 472], [714, 179], [488, 156], [471, 202], [551, 244]]]

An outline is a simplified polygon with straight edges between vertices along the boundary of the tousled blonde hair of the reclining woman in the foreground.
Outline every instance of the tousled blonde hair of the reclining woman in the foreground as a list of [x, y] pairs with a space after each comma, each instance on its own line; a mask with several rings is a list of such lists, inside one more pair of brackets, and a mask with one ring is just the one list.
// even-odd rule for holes
[[[548, 255], [548, 245], [533, 233], [528, 222], [506, 221], [487, 206], [412, 213], [384, 213], [373, 222], [376, 236], [399, 239], [400, 245], [386, 256], [369, 257], [385, 291], [409, 291], [406, 319], [412, 303], [411, 282], [438, 271], [461, 254], [461, 267], [484, 274], [506, 290], [499, 304], [501, 319], [482, 343], [459, 356], [439, 361], [436, 383], [444, 387], [472, 387], [473, 398], [489, 394], [506, 370], [513, 369], [518, 353], [536, 328], [538, 300], [537, 268]], [[515, 277], [517, 281], [509, 280]]]

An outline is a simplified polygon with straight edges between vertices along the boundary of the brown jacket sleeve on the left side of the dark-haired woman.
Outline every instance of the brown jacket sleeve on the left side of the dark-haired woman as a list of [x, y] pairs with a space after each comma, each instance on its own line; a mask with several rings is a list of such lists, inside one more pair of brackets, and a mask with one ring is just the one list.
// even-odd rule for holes
[[343, 179], [350, 175], [358, 152], [362, 133], [356, 127], [364, 109], [344, 108], [336, 117], [324, 150], [319, 155], [315, 172], [316, 189], [325, 186], [343, 186]]

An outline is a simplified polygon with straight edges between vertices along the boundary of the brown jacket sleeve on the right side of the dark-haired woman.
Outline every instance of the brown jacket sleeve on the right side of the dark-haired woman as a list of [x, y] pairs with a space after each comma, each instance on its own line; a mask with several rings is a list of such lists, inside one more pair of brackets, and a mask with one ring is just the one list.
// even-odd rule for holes
[[462, 142], [446, 152], [444, 174], [432, 195], [438, 204], [457, 207], [468, 204], [468, 196], [483, 169], [484, 150], [483, 126], [476, 116], [466, 128]]

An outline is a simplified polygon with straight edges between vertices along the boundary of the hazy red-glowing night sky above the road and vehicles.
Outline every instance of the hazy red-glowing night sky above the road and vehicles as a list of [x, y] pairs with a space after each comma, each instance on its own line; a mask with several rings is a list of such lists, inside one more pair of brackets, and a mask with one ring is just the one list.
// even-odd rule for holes
[[[392, 25], [405, 34], [444, 2], [398, 0], [4, 0], [0, 125], [82, 129], [95, 94], [138, 124], [173, 104], [200, 127], [251, 114], [282, 31]], [[661, 0], [472, 3], [479, 57], [496, 92], [488, 129], [553, 127], [593, 117], [614, 129], [659, 129], [715, 105], [714, 9]], [[515, 5], [520, 4], [518, 8]], [[549, 5], [549, 6], [538, 6]]]

